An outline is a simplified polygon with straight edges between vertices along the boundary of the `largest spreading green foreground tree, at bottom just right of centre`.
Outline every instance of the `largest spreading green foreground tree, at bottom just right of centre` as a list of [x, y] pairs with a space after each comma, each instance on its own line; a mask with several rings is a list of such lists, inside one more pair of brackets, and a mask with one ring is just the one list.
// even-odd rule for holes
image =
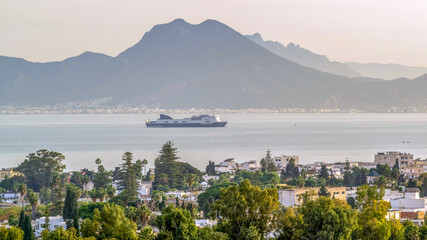
[[221, 189], [221, 197], [213, 205], [215, 217], [231, 239], [244, 239], [250, 227], [264, 236], [272, 227], [271, 215], [279, 208], [277, 190], [261, 190], [249, 180], [239, 186]]

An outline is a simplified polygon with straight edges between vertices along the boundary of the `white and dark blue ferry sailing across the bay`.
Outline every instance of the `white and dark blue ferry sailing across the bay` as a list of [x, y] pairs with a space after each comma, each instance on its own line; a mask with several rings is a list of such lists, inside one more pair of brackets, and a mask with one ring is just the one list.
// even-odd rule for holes
[[221, 121], [218, 115], [195, 115], [191, 118], [173, 119], [165, 114], [160, 114], [157, 121], [147, 120], [147, 127], [225, 127], [227, 122]]

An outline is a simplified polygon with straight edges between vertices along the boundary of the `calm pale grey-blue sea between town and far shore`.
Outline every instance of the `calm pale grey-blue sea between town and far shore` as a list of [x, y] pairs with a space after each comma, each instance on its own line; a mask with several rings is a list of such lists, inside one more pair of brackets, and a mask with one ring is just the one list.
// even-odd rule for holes
[[[184, 115], [172, 115], [185, 117]], [[188, 115], [187, 115], [188, 116]], [[225, 128], [146, 128], [157, 115], [0, 115], [0, 168], [14, 167], [39, 149], [66, 156], [67, 169], [107, 168], [125, 151], [153, 165], [161, 146], [175, 143], [182, 161], [203, 169], [208, 161], [298, 155], [315, 161], [373, 161], [378, 151], [427, 157], [427, 114], [232, 114]], [[409, 143], [408, 143], [409, 141]], [[405, 142], [405, 143], [403, 143]]]

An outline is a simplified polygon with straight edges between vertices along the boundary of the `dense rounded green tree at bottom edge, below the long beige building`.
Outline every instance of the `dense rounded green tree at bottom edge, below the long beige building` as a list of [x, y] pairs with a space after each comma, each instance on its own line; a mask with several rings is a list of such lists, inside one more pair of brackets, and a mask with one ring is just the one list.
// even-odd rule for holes
[[345, 201], [319, 197], [307, 200], [298, 209], [308, 239], [350, 239], [357, 227], [357, 214]]

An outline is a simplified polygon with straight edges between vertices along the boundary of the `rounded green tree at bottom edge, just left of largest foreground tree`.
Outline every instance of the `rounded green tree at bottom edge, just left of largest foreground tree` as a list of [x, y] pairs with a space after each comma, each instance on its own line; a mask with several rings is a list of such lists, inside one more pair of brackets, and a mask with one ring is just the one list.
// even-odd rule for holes
[[172, 234], [176, 240], [194, 239], [197, 227], [190, 212], [173, 205], [163, 208], [162, 215], [156, 218], [160, 232]]

